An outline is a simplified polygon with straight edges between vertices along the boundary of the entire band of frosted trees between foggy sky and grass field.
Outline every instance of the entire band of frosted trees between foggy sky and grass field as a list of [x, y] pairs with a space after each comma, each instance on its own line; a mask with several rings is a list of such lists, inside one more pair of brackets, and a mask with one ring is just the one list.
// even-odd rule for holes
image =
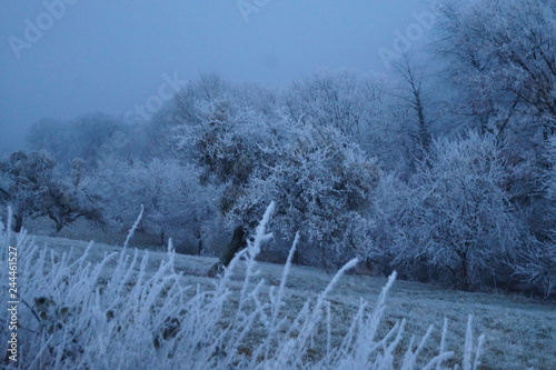
[[358, 258], [379, 276], [550, 299], [555, 2], [436, 12], [430, 48], [383, 76], [318, 71], [269, 89], [202, 74], [148, 121], [36, 122], [29, 150], [0, 159], [0, 206], [14, 231], [42, 218], [58, 234], [78, 220], [126, 232], [142, 204], [142, 234], [215, 256], [276, 201], [267, 260], [284, 262], [299, 231], [296, 263]]

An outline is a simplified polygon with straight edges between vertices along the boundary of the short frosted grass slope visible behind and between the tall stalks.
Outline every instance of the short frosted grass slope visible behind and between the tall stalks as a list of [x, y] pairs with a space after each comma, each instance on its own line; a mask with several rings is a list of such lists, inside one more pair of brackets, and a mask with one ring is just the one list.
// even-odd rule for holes
[[[48, 244], [57, 252], [73, 248], [73, 257], [79, 257], [88, 242], [62, 238], [36, 237], [39, 244]], [[98, 243], [93, 248], [91, 262], [119, 247]], [[130, 250], [130, 253], [133, 251]], [[158, 268], [163, 252], [152, 251], [151, 266]], [[191, 284], [210, 287], [211, 279], [205, 277], [207, 269], [216, 261], [214, 258], [177, 256], [176, 268], [182, 271], [183, 279]], [[282, 267], [260, 263], [261, 278], [269, 286], [279, 283]], [[106, 273], [110, 273], [109, 269]], [[288, 279], [288, 308], [299, 309], [308, 298], [321, 292], [331, 276], [307, 267], [295, 267]], [[344, 333], [346, 322], [355, 313], [363, 298], [374, 302], [385, 278], [364, 276], [344, 277], [330, 297], [335, 316], [334, 331]], [[239, 284], [239, 282], [238, 282]], [[438, 342], [443, 319], [449, 320], [449, 348], [459, 348], [465, 338], [465, 323], [468, 314], [475, 316], [474, 328], [477, 333], [486, 334], [486, 352], [483, 357], [483, 369], [556, 369], [556, 307], [539, 303], [518, 296], [468, 293], [443, 290], [428, 284], [398, 281], [388, 299], [387, 316], [384, 330], [395, 321], [406, 318], [407, 331], [423, 336], [429, 324], [436, 327], [433, 340]], [[460, 357], [460, 353], [458, 353]]]

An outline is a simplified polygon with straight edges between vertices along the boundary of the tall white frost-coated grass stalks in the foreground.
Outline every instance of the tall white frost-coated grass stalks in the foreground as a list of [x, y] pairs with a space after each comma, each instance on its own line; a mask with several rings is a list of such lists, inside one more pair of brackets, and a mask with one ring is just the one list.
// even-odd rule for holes
[[[286, 283], [296, 244], [278, 287], [268, 289], [257, 279], [255, 257], [271, 238], [266, 226], [272, 210], [274, 204], [252, 242], [211, 289], [185, 286], [173, 269], [171, 249], [158, 269], [149, 269], [149, 256], [139, 258], [137, 250], [130, 256], [123, 249], [91, 263], [87, 252], [77, 259], [71, 251], [56, 256], [24, 233], [16, 236], [19, 357], [11, 363], [3, 359], [3, 364], [11, 369], [278, 370], [415, 369], [418, 363], [423, 369], [446, 369], [446, 360], [454, 356], [446, 349], [446, 326], [437, 354], [430, 359], [423, 357], [423, 349], [433, 328], [418, 344], [411, 340], [405, 350], [400, 348], [405, 321], [383, 338], [377, 334], [395, 274], [375, 307], [361, 303], [346, 336], [332, 346], [335, 318], [327, 297], [356, 260], [340, 269], [316, 301], [307, 301], [298, 312], [288, 314]], [[3, 230], [1, 237], [6, 263], [13, 236]], [[240, 266], [245, 274], [238, 277]], [[1, 271], [7, 281], [7, 269]], [[0, 299], [8, 301], [6, 289]], [[8, 320], [7, 310], [2, 310], [1, 320]], [[7, 338], [7, 326], [1, 328], [2, 338]], [[481, 344], [483, 337], [474, 340], [469, 322], [463, 369], [478, 368]], [[0, 348], [7, 353], [7, 340]]]

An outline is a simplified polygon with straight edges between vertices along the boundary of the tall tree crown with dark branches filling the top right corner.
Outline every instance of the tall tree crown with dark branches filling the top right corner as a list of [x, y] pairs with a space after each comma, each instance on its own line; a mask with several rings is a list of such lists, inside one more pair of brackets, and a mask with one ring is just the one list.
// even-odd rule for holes
[[459, 111], [483, 132], [517, 124], [548, 138], [556, 128], [556, 3], [447, 0], [439, 10], [435, 48], [459, 92]]

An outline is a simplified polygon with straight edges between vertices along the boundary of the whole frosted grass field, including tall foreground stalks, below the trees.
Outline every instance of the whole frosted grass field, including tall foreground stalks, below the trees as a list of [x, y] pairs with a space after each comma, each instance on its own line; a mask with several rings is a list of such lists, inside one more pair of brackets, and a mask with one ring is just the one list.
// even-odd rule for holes
[[[483, 333], [478, 369], [556, 369], [554, 302], [395, 281], [385, 306], [373, 311], [386, 278], [344, 274], [321, 299], [335, 277], [309, 267], [289, 267], [282, 290], [285, 267], [250, 258], [236, 261], [232, 273], [215, 280], [206, 277], [215, 258], [63, 238], [14, 239], [11, 236], [21, 253], [21, 298], [41, 317], [39, 322], [20, 306], [20, 324], [26, 328], [19, 330], [19, 366], [147, 369], [151, 360], [161, 369], [177, 363], [183, 368], [183, 361], [190, 361], [188, 369], [375, 369], [371, 364], [377, 363], [386, 364], [380, 369], [406, 369], [403, 361], [413, 362], [406, 350], [415, 336], [417, 368], [473, 369]], [[1, 298], [7, 300], [3, 290]], [[369, 302], [368, 316], [360, 314], [363, 301]], [[316, 304], [321, 310], [314, 310]], [[473, 338], [466, 334], [468, 316]], [[403, 322], [405, 329], [397, 331]], [[420, 347], [429, 326], [434, 329]], [[466, 336], [473, 340], [467, 346]], [[397, 346], [389, 346], [397, 340]], [[371, 350], [376, 343], [380, 344]], [[435, 362], [439, 351], [454, 351], [441, 367]], [[26, 352], [39, 354], [30, 359]], [[10, 368], [6, 361], [3, 368]]]

